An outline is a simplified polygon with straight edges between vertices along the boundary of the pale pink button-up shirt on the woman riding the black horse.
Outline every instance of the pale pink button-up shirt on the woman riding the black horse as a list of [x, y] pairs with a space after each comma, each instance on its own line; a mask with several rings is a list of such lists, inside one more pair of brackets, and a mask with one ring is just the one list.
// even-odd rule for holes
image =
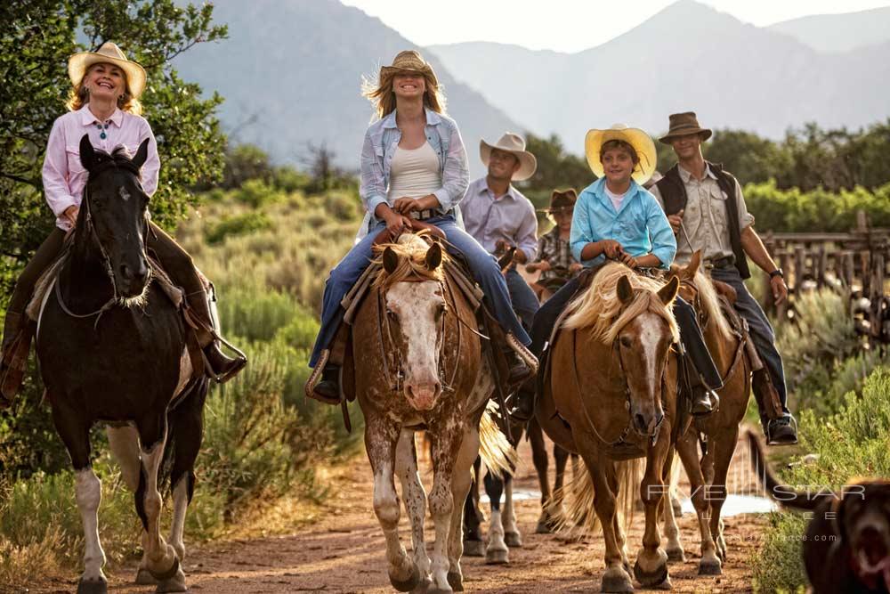
[[142, 189], [149, 196], [158, 189], [161, 167], [158, 144], [145, 118], [115, 110], [108, 120], [108, 128], [104, 129], [104, 139], [98, 124], [99, 120], [93, 116], [89, 105], [85, 105], [56, 118], [50, 132], [44, 158], [44, 195], [56, 216], [56, 226], [64, 231], [68, 231], [71, 224], [61, 214], [70, 206], [80, 207], [86, 185], [87, 171], [80, 162], [80, 139], [84, 134], [90, 136], [95, 149], [110, 153], [123, 145], [131, 155], [135, 155], [139, 144], [148, 138], [149, 157], [142, 166]]

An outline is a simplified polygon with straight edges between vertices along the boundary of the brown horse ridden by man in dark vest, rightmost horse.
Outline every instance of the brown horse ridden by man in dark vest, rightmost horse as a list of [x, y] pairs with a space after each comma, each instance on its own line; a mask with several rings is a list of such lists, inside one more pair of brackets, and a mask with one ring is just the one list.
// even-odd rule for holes
[[[739, 424], [748, 408], [751, 392], [751, 362], [739, 333], [732, 330], [720, 307], [720, 297], [708, 276], [699, 270], [700, 252], [685, 267], [673, 266], [671, 275], [680, 281], [680, 296], [692, 304], [699, 318], [701, 332], [723, 376], [718, 390], [720, 408], [703, 419], [697, 419], [676, 441], [676, 451], [683, 461], [692, 489], [692, 505], [699, 517], [701, 561], [699, 574], [719, 575], [726, 560], [726, 542], [720, 510], [726, 500], [726, 473], [739, 438]], [[699, 460], [700, 435], [707, 437], [707, 453]], [[672, 506], [665, 509], [667, 555], [672, 561], [683, 561], [683, 545], [679, 540]]]

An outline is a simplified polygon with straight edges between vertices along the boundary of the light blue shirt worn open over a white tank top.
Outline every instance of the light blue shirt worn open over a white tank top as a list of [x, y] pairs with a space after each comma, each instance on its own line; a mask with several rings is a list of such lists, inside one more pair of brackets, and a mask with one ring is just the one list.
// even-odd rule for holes
[[[466, 186], [470, 183], [470, 171], [466, 163], [466, 151], [461, 140], [457, 123], [440, 113], [426, 109], [426, 140], [439, 156], [442, 187], [434, 191], [439, 200], [439, 210], [448, 213], [464, 198]], [[392, 206], [387, 199], [390, 183], [390, 167], [396, 147], [401, 140], [401, 130], [395, 123], [395, 111], [368, 126], [365, 142], [361, 147], [361, 179], [359, 195], [365, 206], [365, 220], [362, 221], [356, 240], [368, 234], [377, 224], [374, 211], [383, 203]], [[459, 212], [455, 213], [458, 223]], [[463, 225], [461, 225], [463, 226]]]

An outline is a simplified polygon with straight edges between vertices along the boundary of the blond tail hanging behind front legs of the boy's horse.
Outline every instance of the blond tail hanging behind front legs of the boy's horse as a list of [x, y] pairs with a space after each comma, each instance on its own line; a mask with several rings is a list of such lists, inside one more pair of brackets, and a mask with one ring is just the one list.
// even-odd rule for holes
[[[627, 532], [634, 520], [636, 501], [640, 499], [640, 483], [646, 470], [646, 459], [622, 460], [614, 464], [616, 484], [619, 486], [616, 509]], [[600, 527], [594, 507], [595, 497], [594, 479], [585, 462], [561, 490], [554, 492], [554, 500], [565, 501], [565, 514], [560, 517], [557, 530], [581, 528], [595, 533]]]

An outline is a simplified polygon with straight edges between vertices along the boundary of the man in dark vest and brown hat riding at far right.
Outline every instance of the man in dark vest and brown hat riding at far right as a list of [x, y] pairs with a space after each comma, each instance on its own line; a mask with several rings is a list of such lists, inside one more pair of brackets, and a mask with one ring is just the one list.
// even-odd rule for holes
[[[754, 216], [748, 214], [740, 183], [723, 167], [702, 157], [701, 142], [710, 135], [710, 130], [699, 126], [692, 111], [671, 115], [670, 129], [659, 140], [674, 148], [678, 163], [650, 191], [677, 236], [676, 263], [687, 264], [692, 253], [701, 250], [704, 260], [713, 266], [711, 277], [731, 285], [738, 293], [736, 309], [748, 321], [751, 338], [765, 364], [764, 370], [754, 374], [753, 387], [768, 443], [797, 443], [773, 326], [745, 288], [744, 280], [751, 275], [748, 258], [770, 275], [777, 305], [788, 297], [788, 286], [781, 268], [754, 231]], [[782, 414], [770, 418], [769, 403], [774, 398], [781, 402]]]

